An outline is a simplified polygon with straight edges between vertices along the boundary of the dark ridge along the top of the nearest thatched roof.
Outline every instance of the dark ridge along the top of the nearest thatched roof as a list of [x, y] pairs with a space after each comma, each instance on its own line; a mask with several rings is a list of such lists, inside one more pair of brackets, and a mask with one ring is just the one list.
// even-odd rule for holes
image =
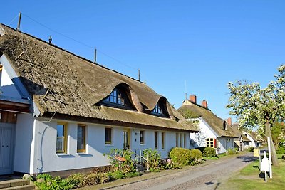
[[[89, 60], [89, 59], [87, 59], [87, 58], [83, 58], [82, 56], [78, 56], [78, 55], [76, 55], [75, 53], [72, 53], [71, 51], [68, 51], [68, 50], [66, 50], [66, 49], [63, 49], [63, 48], [61, 48], [60, 46], [56, 46], [56, 45], [53, 44], [53, 43], [48, 43], [47, 41], [44, 41], [44, 40], [41, 39], [41, 38], [38, 38], [38, 37], [36, 37], [36, 36], [32, 36], [31, 34], [28, 34], [28, 33], [24, 33], [23, 31], [17, 31], [17, 30], [15, 30], [14, 28], [11, 28], [10, 26], [6, 26], [4, 23], [0, 23], [0, 26], [1, 26], [1, 25], [5, 26], [5, 27], [7, 27], [7, 28], [10, 28], [11, 30], [13, 30], [13, 31], [15, 31], [15, 32], [22, 33], [22, 34], [24, 34], [24, 35], [26, 35], [26, 36], [29, 36], [29, 37], [31, 37], [31, 38], [34, 38], [34, 39], [36, 39], [36, 40], [38, 40], [38, 41], [41, 41], [41, 42], [43, 42], [43, 43], [46, 43], [46, 44], [49, 45], [49, 46], [53, 46], [53, 48], [58, 48], [58, 49], [61, 50], [61, 51], [64, 51], [64, 52], [66, 52], [66, 53], [70, 53], [71, 55], [76, 56], [77, 58], [81, 58], [81, 59], [83, 59], [83, 60], [86, 60], [86, 61], [88, 61], [89, 63], [98, 65], [98, 66], [101, 67], [101, 68], [104, 68], [104, 69], [106, 69], [106, 70], [113, 71], [114, 73], [118, 73], [119, 75], [123, 75], [123, 76], [128, 77], [128, 78], [130, 78], [130, 79], [132, 79], [132, 80], [135, 80], [135, 81], [137, 81], [137, 82], [146, 84], [145, 82], [142, 82], [142, 81], [140, 81], [140, 80], [138, 80], [138, 79], [135, 79], [135, 78], [133, 78], [133, 77], [130, 77], [130, 76], [128, 76], [128, 75], [125, 75], [125, 74], [123, 74], [123, 73], [120, 73], [120, 72], [118, 72], [117, 70], [113, 70], [113, 69], [107, 68], [107, 67], [105, 67], [105, 66], [103, 66], [103, 65], [100, 65], [100, 64], [98, 64], [98, 63], [94, 63], [93, 61], [91, 61], [91, 60]], [[4, 29], [4, 31], [5, 31], [5, 29]]]

